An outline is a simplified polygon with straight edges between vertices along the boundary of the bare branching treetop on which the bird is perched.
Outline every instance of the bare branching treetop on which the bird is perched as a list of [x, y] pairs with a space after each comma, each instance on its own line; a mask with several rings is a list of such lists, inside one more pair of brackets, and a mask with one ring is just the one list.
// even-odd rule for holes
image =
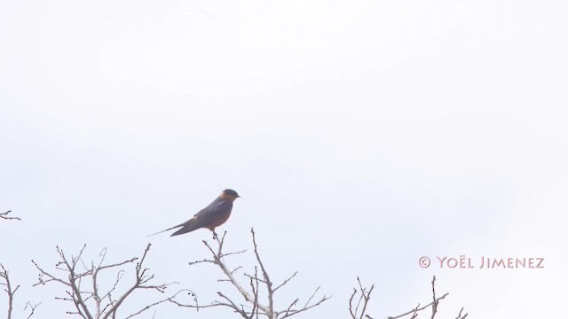
[[[226, 232], [221, 238], [219, 238], [218, 236], [214, 237], [217, 241], [217, 249], [213, 249], [207, 241], [203, 241], [203, 244], [209, 249], [209, 252], [211, 253], [211, 259], [204, 259], [202, 261], [193, 261], [189, 263], [190, 265], [198, 263], [210, 263], [220, 268], [225, 275], [225, 279], [221, 279], [219, 281], [232, 284], [233, 287], [241, 295], [243, 301], [234, 300], [233, 298], [228, 297], [224, 292], [217, 292], [217, 295], [221, 298], [221, 300], [215, 300], [209, 305], [205, 306], [199, 306], [196, 302], [195, 305], [184, 305], [184, 307], [194, 307], [197, 309], [199, 309], [200, 307], [229, 307], [233, 309], [235, 313], [247, 319], [259, 318], [259, 316], [265, 316], [268, 319], [284, 319], [292, 315], [303, 313], [304, 311], [312, 309], [313, 307], [318, 307], [321, 303], [331, 298], [323, 295], [323, 297], [321, 297], [320, 299], [314, 300], [317, 292], [319, 292], [318, 287], [303, 304], [299, 304], [300, 300], [296, 299], [292, 300], [288, 304], [287, 308], [276, 310], [274, 307], [275, 293], [278, 292], [280, 288], [284, 287], [284, 285], [288, 284], [290, 280], [296, 276], [297, 271], [280, 284], [275, 285], [268, 275], [268, 271], [264, 267], [264, 263], [260, 258], [260, 254], [258, 253], [255, 230], [251, 229], [250, 232], [252, 234], [252, 243], [256, 258], [256, 266], [254, 268], [253, 275], [248, 275], [246, 273], [243, 274], [243, 276], [245, 276], [246, 280], [248, 281], [248, 289], [246, 289], [245, 286], [241, 284], [241, 282], [239, 282], [239, 280], [237, 280], [237, 278], [235, 277], [235, 272], [242, 267], [231, 270], [225, 264], [224, 259], [226, 256], [246, 252], [246, 250], [243, 250], [234, 253], [224, 253], [223, 245], [225, 244]], [[263, 290], [266, 295], [266, 300], [263, 302], [260, 301], [261, 290]], [[175, 300], [172, 300], [171, 302], [177, 303]]]

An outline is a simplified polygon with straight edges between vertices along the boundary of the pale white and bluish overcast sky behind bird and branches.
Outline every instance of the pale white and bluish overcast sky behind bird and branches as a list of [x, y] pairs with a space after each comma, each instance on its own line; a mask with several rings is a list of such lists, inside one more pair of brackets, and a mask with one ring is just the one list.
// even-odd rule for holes
[[[274, 281], [299, 271], [278, 305], [317, 286], [333, 295], [298, 318], [348, 317], [357, 276], [375, 284], [370, 315], [398, 315], [430, 302], [432, 275], [450, 292], [439, 318], [557, 317], [567, 13], [563, 1], [0, 0], [0, 212], [21, 218], [0, 220], [0, 262], [21, 284], [14, 316], [28, 300], [43, 302], [38, 318], [70, 309], [53, 300], [63, 287], [31, 287], [30, 260], [52, 268], [56, 245], [87, 244], [87, 261], [106, 247], [110, 262], [150, 241], [156, 282], [201, 303], [230, 291], [217, 268], [187, 265], [208, 256], [209, 230], [146, 235], [232, 188], [227, 248], [249, 249], [254, 227]], [[544, 268], [440, 268], [438, 256]], [[250, 272], [253, 255], [227, 261]]]

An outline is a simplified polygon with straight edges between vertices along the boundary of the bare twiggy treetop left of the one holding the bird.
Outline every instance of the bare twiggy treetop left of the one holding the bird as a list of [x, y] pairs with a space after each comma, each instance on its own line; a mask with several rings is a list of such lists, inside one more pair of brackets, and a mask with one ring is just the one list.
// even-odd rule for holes
[[[104, 264], [106, 257], [105, 248], [99, 254], [99, 262], [95, 263], [94, 261], [91, 261], [90, 265], [86, 265], [83, 262], [83, 251], [85, 246], [86, 245], [83, 245], [83, 248], [77, 256], [71, 257], [67, 257], [67, 255], [63, 253], [63, 250], [57, 247], [59, 261], [55, 268], [66, 273], [66, 276], [54, 276], [51, 272], [41, 268], [36, 261], [32, 261], [34, 265], [36, 265], [37, 270], [40, 272], [38, 282], [34, 284], [34, 286], [55, 282], [63, 284], [66, 287], [66, 296], [56, 297], [55, 299], [70, 301], [73, 304], [75, 309], [67, 311], [67, 314], [69, 315], [79, 315], [84, 319], [114, 319], [116, 318], [116, 314], [124, 301], [132, 296], [132, 292], [137, 290], [165, 292], [170, 285], [177, 284], [150, 284], [150, 281], [154, 279], [154, 275], [149, 274], [149, 269], [144, 267], [146, 255], [150, 250], [150, 244], [146, 246], [146, 250], [142, 254], [141, 258], [133, 257], [126, 261], [110, 264]], [[122, 277], [125, 273], [122, 267], [130, 264], [135, 265], [134, 276], [132, 278], [133, 280], [127, 289], [121, 290], [122, 292], [118, 292], [119, 289], [117, 289], [117, 287], [119, 286], [119, 283], [122, 282]], [[99, 276], [101, 276], [103, 271], [106, 272], [106, 270], [110, 269], [115, 271], [114, 284], [103, 291], [99, 288]], [[124, 316], [124, 318], [128, 319], [135, 317], [151, 307], [157, 306], [166, 301], [172, 301], [178, 293], [185, 291], [187, 290], [180, 290], [170, 295], [168, 298], [147, 304], [146, 306], [141, 307], [138, 311]]]

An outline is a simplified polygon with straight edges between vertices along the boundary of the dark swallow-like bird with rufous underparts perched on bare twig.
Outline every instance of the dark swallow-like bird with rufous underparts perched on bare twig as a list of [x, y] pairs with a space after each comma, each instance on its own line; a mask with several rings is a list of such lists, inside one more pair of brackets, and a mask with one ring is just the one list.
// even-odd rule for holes
[[211, 204], [209, 204], [209, 206], [201, 209], [201, 211], [199, 211], [197, 214], [194, 214], [189, 221], [182, 222], [179, 225], [170, 227], [167, 230], [158, 231], [157, 233], [148, 235], [147, 237], [154, 236], [168, 230], [175, 230], [177, 228], [180, 229], [175, 231], [170, 236], [177, 236], [191, 232], [193, 230], [207, 228], [213, 232], [213, 237], [217, 238], [215, 228], [229, 219], [229, 216], [231, 216], [231, 211], [233, 210], [233, 201], [240, 197], [241, 196], [239, 196], [236, 191], [230, 189], [221, 191], [219, 197], [215, 198], [215, 200], [213, 200]]

